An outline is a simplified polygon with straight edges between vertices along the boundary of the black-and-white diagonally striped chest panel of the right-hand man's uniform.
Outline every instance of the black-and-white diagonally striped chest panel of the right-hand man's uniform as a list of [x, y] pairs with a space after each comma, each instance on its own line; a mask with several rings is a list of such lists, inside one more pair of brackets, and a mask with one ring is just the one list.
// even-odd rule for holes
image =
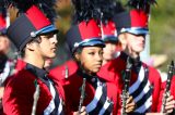
[[149, 81], [148, 67], [141, 66], [137, 81], [129, 88], [130, 95], [137, 104], [135, 113], [143, 114], [148, 112], [152, 105], [152, 88]]

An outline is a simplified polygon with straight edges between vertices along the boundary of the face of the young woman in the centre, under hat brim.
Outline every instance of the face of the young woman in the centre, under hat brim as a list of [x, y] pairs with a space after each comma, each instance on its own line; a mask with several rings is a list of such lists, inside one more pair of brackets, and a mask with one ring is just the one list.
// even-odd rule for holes
[[84, 47], [81, 53], [75, 53], [75, 59], [89, 74], [97, 73], [103, 62], [103, 48]]

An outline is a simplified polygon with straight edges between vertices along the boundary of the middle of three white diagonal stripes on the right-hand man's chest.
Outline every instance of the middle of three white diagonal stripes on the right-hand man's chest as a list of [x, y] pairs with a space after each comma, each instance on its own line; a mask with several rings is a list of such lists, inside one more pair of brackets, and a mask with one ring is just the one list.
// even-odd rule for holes
[[148, 93], [149, 90], [150, 90], [150, 82], [148, 81], [147, 85], [145, 85], [145, 87], [144, 87], [144, 89], [142, 90], [142, 92], [141, 92], [137, 98], [135, 98], [135, 101], [138, 102], [139, 100], [141, 100], [141, 98], [142, 98], [145, 93]]

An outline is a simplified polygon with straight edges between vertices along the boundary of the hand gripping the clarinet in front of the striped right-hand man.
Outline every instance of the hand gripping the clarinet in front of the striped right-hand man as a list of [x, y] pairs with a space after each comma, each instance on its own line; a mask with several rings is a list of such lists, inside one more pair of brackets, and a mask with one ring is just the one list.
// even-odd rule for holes
[[135, 107], [136, 107], [136, 103], [133, 101], [133, 98], [129, 97], [127, 99], [126, 113], [133, 112]]

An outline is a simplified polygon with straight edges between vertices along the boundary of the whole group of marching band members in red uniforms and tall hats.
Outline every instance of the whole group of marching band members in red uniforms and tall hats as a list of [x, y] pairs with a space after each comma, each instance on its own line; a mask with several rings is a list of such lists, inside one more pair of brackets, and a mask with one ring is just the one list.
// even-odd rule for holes
[[[67, 33], [72, 59], [48, 69], [56, 58], [58, 30], [36, 5], [31, 5], [0, 35], [1, 114], [31, 115], [37, 85], [36, 115], [120, 115], [124, 107], [128, 115], [161, 113], [166, 81], [139, 55], [149, 31], [148, 17], [138, 10], [129, 13], [138, 16], [130, 21], [137, 20], [135, 23], [139, 24], [130, 22], [128, 26], [122, 20], [128, 12], [122, 12], [107, 24], [90, 18], [72, 25]], [[9, 39], [21, 52], [16, 61], [7, 56]], [[128, 62], [132, 66], [128, 98], [122, 106]], [[83, 79], [85, 89], [81, 100]], [[173, 114], [174, 86], [173, 77], [164, 113]]]

